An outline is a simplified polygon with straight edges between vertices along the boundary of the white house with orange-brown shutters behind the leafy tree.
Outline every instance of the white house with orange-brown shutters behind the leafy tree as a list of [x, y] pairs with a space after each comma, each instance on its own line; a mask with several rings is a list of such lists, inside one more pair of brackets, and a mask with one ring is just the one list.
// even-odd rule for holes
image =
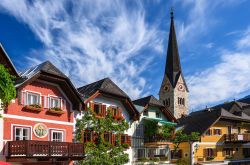
[[[122, 91], [112, 80], [104, 78], [102, 80], [93, 82], [78, 88], [79, 93], [82, 95], [87, 109], [94, 111], [98, 117], [105, 117], [107, 111], [110, 110], [113, 117], [117, 120], [124, 118], [129, 124], [129, 129], [126, 130], [120, 137], [116, 132], [108, 132], [104, 135], [104, 140], [115, 145], [117, 139], [121, 140], [121, 144], [128, 144], [125, 153], [129, 155], [129, 163], [132, 164], [133, 154], [131, 146], [131, 138], [133, 135], [134, 121], [138, 120], [139, 113], [134, 107], [129, 96]], [[82, 118], [85, 112], [77, 115], [76, 118]], [[84, 131], [84, 142], [94, 142], [94, 132]]]

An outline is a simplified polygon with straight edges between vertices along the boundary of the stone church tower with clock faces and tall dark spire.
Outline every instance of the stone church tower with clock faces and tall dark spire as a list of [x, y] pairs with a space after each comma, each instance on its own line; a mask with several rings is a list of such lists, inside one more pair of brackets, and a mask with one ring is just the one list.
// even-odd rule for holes
[[174, 13], [171, 10], [165, 73], [159, 91], [160, 101], [178, 119], [188, 114], [188, 88], [181, 69], [178, 45], [174, 28]]

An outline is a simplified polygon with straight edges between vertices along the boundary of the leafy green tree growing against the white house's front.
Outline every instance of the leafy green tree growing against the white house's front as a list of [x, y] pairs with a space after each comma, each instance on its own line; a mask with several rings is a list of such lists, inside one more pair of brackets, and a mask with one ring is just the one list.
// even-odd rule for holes
[[116, 145], [105, 142], [103, 134], [112, 132], [116, 135], [121, 135], [129, 128], [125, 119], [115, 120], [112, 117], [110, 110], [107, 111], [107, 116], [96, 117], [95, 113], [88, 109], [85, 115], [77, 120], [76, 123], [76, 139], [82, 141], [83, 130], [92, 130], [96, 134], [96, 142], [87, 142], [84, 144], [86, 158], [80, 161], [84, 165], [114, 165], [125, 164], [129, 161], [128, 154], [124, 153], [127, 145], [121, 144], [119, 139], [116, 139]]

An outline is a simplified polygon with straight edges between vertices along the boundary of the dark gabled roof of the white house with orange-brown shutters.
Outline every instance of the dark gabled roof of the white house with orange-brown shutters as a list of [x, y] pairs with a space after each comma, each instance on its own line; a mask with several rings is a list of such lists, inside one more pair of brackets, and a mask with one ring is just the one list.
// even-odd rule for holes
[[[99, 94], [104, 97], [119, 100], [128, 111], [131, 119], [139, 119], [139, 112], [136, 110], [130, 97], [109, 78], [104, 78], [80, 87], [78, 88], [78, 91], [82, 95], [83, 99], [85, 99], [85, 103], [94, 99]], [[96, 93], [98, 93], [98, 95], [96, 95]]]

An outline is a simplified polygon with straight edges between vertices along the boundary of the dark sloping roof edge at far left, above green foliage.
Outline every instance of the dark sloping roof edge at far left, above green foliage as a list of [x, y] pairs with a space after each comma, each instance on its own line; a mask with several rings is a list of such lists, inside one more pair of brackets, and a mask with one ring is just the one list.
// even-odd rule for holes
[[6, 68], [8, 68], [10, 71], [10, 74], [16, 77], [19, 76], [14, 64], [12, 63], [10, 57], [4, 50], [4, 47], [1, 43], [0, 43], [0, 64], [3, 64]]

